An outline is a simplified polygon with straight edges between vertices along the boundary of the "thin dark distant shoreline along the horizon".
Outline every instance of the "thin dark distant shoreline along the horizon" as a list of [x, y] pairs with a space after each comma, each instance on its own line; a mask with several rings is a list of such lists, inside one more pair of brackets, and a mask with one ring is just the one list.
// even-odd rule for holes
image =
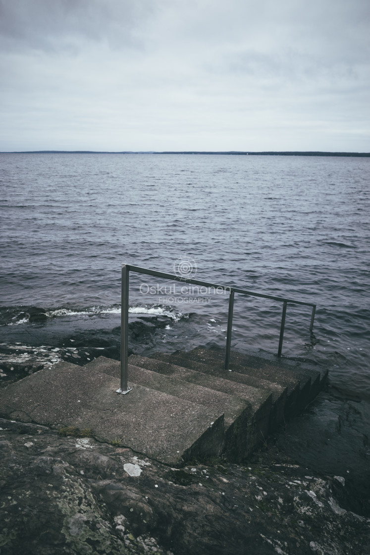
[[223, 154], [223, 155], [241, 155], [241, 156], [351, 156], [351, 157], [361, 157], [369, 158], [370, 152], [319, 152], [319, 151], [307, 151], [307, 152], [295, 152], [295, 151], [266, 151], [266, 152], [241, 152], [239, 150], [230, 150], [229, 152], [219, 152], [212, 151], [207, 152], [203, 150], [179, 150], [179, 151], [164, 151], [164, 152], [154, 152], [154, 151], [133, 151], [124, 150], [121, 152], [109, 152], [101, 150], [21, 150], [13, 152], [0, 152], [0, 154]]

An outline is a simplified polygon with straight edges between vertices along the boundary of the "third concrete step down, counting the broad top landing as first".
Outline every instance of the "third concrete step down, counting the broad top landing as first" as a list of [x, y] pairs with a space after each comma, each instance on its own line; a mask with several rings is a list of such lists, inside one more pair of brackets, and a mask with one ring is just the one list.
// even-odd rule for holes
[[[225, 452], [230, 460], [240, 461], [247, 457], [256, 445], [267, 437], [270, 427], [271, 392], [138, 355], [131, 355], [129, 357], [130, 361], [134, 362], [135, 366], [140, 366], [143, 369], [175, 377], [178, 380], [191, 382], [191, 384], [201, 385], [209, 390], [227, 393], [249, 403], [251, 414], [245, 432], [243, 430], [236, 432], [234, 428], [227, 430]], [[238, 433], [242, 438], [241, 440], [237, 440]]]

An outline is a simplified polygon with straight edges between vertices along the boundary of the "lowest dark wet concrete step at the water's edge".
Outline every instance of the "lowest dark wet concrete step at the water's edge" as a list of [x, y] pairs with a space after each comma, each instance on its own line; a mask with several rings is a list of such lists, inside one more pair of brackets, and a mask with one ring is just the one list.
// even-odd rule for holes
[[[225, 350], [210, 350], [197, 347], [189, 351], [187, 356], [199, 360], [206, 358], [218, 361], [220, 367], [224, 367]], [[300, 366], [297, 362], [288, 361], [287, 359], [275, 359], [274, 361], [267, 361], [259, 356], [247, 355], [237, 352], [230, 353], [231, 370], [236, 372], [247, 372], [249, 375], [265, 375], [276, 376], [276, 380], [292, 380], [300, 382], [300, 405], [305, 405], [316, 397], [317, 393], [321, 390], [323, 380], [327, 376], [327, 372], [321, 374], [320, 371], [311, 368], [308, 365], [305, 367]], [[242, 370], [244, 369], [244, 370]]]

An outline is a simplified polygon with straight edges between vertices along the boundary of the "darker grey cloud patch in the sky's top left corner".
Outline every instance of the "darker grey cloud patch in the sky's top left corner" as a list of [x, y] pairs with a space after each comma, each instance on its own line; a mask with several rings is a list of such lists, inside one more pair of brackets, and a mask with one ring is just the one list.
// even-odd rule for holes
[[3, 48], [60, 51], [80, 41], [135, 42], [134, 29], [153, 12], [150, 0], [0, 0]]

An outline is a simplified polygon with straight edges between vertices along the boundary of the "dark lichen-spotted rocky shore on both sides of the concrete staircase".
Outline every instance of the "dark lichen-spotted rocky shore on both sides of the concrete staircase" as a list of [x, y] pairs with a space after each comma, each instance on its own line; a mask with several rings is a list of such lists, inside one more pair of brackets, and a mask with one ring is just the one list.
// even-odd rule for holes
[[[105, 354], [70, 343], [1, 345], [2, 386]], [[0, 553], [370, 553], [369, 421], [329, 386], [242, 465], [174, 469], [122, 438], [1, 420]]]

